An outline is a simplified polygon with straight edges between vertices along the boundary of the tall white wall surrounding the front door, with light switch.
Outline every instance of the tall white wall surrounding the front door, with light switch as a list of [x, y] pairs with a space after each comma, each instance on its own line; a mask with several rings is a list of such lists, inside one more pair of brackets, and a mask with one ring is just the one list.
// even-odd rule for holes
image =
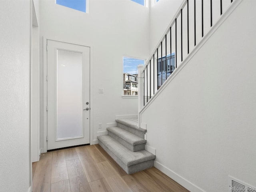
[[[148, 57], [149, 8], [130, 0], [89, 0], [88, 8], [89, 13], [84, 13], [57, 5], [54, 0], [41, 1], [40, 43], [42, 47], [44, 36], [92, 47], [91, 114], [96, 140], [97, 132], [106, 130], [106, 123], [115, 122], [116, 115], [138, 112], [137, 99], [122, 98], [122, 62], [124, 55]], [[103, 94], [98, 93], [99, 88], [104, 89]], [[99, 123], [102, 129], [98, 129]]]

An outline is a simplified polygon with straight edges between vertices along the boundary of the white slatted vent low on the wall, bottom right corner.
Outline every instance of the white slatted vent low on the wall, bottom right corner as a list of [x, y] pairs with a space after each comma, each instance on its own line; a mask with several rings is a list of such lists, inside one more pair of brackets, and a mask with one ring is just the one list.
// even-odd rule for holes
[[228, 192], [256, 192], [256, 187], [228, 176]]

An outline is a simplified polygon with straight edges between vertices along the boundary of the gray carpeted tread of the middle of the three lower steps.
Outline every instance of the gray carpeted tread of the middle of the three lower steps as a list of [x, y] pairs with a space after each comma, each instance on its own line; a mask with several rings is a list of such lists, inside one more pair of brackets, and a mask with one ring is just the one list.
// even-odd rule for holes
[[124, 141], [128, 142], [129, 144], [131, 144], [133, 146], [146, 143], [146, 140], [144, 140], [144, 139], [142, 139], [142, 138], [140, 138], [122, 128], [108, 127], [107, 130], [112, 132], [116, 136], [122, 138]]

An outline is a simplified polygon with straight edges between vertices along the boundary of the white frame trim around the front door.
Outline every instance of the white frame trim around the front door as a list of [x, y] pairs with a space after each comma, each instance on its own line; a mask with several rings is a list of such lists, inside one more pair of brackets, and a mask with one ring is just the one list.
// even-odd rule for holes
[[45, 36], [43, 37], [43, 64], [44, 64], [44, 72], [43, 72], [43, 86], [44, 86], [44, 99], [43, 99], [43, 116], [44, 116], [44, 134], [43, 137], [41, 136], [40, 138], [43, 139], [43, 151], [44, 153], [47, 152], [47, 111], [46, 111], [46, 106], [47, 106], [47, 81], [46, 81], [46, 74], [47, 74], [47, 51], [46, 51], [46, 45], [47, 45], [47, 40], [53, 40], [53, 41], [59, 41], [59, 42], [64, 42], [64, 43], [69, 43], [69, 44], [75, 44], [75, 45], [80, 45], [80, 46], [86, 46], [90, 48], [90, 145], [93, 144], [93, 92], [92, 92], [92, 46], [90, 45], [85, 45], [81, 43], [76, 43], [76, 42], [70, 42], [70, 41], [65, 41], [65, 40], [60, 40], [56, 38], [46, 38]]

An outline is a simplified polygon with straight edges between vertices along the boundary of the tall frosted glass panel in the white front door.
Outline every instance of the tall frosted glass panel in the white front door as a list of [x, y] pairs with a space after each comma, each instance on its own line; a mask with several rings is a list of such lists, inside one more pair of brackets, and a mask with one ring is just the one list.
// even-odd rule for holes
[[83, 136], [82, 53], [57, 50], [57, 140]]

